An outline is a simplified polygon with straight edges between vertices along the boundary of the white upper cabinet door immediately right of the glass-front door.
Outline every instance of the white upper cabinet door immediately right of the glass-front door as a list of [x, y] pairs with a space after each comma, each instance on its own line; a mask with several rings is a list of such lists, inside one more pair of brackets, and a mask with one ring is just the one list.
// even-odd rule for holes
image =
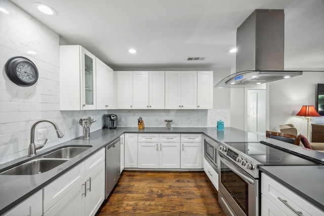
[[116, 109], [116, 72], [96, 59], [97, 109]]

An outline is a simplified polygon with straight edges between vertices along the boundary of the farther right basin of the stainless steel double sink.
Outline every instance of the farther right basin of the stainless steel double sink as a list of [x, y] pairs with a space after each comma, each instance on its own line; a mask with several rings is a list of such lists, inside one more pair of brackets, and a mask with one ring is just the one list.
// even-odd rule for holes
[[88, 150], [92, 146], [64, 147], [45, 155], [45, 158], [65, 158], [70, 159]]

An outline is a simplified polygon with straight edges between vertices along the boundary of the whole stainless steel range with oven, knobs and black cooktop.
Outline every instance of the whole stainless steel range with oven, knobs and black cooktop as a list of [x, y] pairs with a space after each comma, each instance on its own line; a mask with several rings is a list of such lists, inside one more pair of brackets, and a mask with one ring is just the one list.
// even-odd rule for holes
[[218, 149], [218, 202], [226, 215], [259, 215], [259, 166], [316, 164], [264, 143], [222, 143]]

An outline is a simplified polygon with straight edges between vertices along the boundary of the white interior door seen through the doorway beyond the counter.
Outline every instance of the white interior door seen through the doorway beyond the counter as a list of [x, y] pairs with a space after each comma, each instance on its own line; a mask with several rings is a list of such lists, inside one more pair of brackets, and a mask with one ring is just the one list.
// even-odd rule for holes
[[248, 132], [257, 133], [258, 93], [248, 94]]

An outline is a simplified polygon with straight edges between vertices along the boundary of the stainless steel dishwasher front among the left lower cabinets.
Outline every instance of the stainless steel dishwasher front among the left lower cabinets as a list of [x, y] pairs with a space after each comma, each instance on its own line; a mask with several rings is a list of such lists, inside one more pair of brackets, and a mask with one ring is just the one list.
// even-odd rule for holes
[[106, 196], [120, 178], [120, 138], [115, 139], [106, 146]]

